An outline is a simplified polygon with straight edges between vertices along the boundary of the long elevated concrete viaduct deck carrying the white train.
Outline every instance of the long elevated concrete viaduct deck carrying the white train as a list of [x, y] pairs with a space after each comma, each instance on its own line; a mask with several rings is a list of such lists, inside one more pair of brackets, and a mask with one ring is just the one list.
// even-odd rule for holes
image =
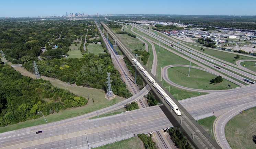
[[[126, 55], [126, 57], [129, 59], [131, 63], [134, 63], [132, 61], [132, 58], [135, 57], [130, 53], [130, 51], [122, 44], [122, 42], [112, 33], [112, 31], [103, 23], [101, 22], [102, 26], [107, 30], [109, 35], [116, 40], [118, 47], [123, 51], [123, 53]], [[140, 63], [140, 62], [138, 62]], [[147, 70], [142, 64], [144, 70]], [[148, 80], [148, 78], [142, 73], [141, 70], [137, 70], [145, 82], [147, 82], [149, 85], [152, 84]], [[174, 97], [161, 85], [161, 83], [147, 70], [150, 77], [152, 77], [155, 80], [155, 83], [161, 87], [161, 90], [163, 90], [171, 99], [174, 99]], [[173, 100], [173, 102], [178, 106], [179, 110], [181, 111], [181, 116], [178, 116], [176, 113], [173, 112], [173, 110], [170, 108], [170, 105], [166, 102], [166, 100], [162, 97], [160, 92], [155, 89], [154, 86], [151, 85], [151, 89], [155, 93], [155, 95], [163, 101], [163, 104], [165, 105], [163, 109], [167, 109], [166, 116], [169, 117], [169, 120], [174, 124], [178, 124], [181, 129], [186, 133], [187, 137], [193, 142], [193, 144], [199, 148], [199, 149], [221, 149], [221, 147], [213, 141], [207, 132], [204, 131], [204, 129], [196, 123], [194, 118], [182, 107], [179, 102], [176, 100]], [[193, 138], [194, 135], [194, 138]]]

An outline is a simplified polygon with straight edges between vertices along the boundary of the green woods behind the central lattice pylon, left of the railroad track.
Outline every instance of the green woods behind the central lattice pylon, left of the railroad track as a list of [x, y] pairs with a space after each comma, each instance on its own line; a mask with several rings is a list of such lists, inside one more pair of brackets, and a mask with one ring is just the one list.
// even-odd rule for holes
[[[33, 72], [33, 59], [23, 60], [23, 66]], [[113, 82], [114, 94], [128, 98], [131, 93], [120, 79], [119, 72], [115, 69], [110, 55], [85, 53], [80, 59], [52, 59], [37, 61], [38, 70], [41, 75], [57, 78], [78, 86], [92, 87], [97, 89], [106, 88], [107, 72], [110, 72]]]

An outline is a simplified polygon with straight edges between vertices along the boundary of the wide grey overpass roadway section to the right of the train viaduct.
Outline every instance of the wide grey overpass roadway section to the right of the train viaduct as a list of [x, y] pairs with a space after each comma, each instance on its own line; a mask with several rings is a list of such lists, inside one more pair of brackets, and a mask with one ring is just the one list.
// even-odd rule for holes
[[184, 99], [179, 103], [191, 115], [197, 116], [198, 114], [198, 118], [203, 119], [211, 115], [219, 116], [238, 105], [253, 101], [256, 101], [256, 86], [248, 85], [229, 92], [211, 93]]

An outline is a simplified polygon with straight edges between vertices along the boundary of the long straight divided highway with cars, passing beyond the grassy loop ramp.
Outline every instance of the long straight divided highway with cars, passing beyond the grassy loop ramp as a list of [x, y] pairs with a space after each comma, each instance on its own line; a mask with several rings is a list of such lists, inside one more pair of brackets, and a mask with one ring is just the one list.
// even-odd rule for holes
[[[136, 25], [133, 25], [133, 26], [136, 26]], [[138, 26], [136, 26], [136, 27], [139, 28]], [[165, 39], [165, 38], [163, 38], [163, 37], [160, 38], [160, 37], [158, 37], [158, 36], [155, 36], [154, 33], [150, 32], [150, 31], [148, 31], [148, 30], [141, 29], [141, 28], [139, 28], [139, 29], [140, 29], [143, 33], [145, 33], [145, 34], [147, 34], [147, 35], [149, 35], [149, 36], [151, 36], [151, 37], [153, 37], [153, 38], [155, 38], [155, 39], [157, 39], [157, 40], [160, 40], [162, 43], [164, 43], [164, 44], [166, 44], [166, 45], [168, 45], [168, 46], [171, 46], [171, 44], [175, 45], [175, 46], [173, 47], [175, 50], [180, 51], [180, 52], [182, 52], [182, 53], [188, 55], [189, 57], [192, 57], [193, 59], [196, 59], [197, 61], [199, 61], [199, 62], [201, 62], [201, 63], [207, 64], [208, 66], [211, 66], [213, 69], [216, 69], [216, 70], [218, 70], [218, 71], [221, 71], [221, 72], [224, 73], [224, 74], [228, 74], [228, 75], [230, 75], [230, 76], [232, 76], [232, 77], [234, 77], [234, 78], [236, 78], [236, 79], [238, 79], [238, 80], [241, 80], [241, 81], [244, 82], [244, 83], [250, 84], [250, 83], [244, 81], [244, 80], [243, 80], [244, 77], [242, 77], [242, 76], [240, 76], [240, 75], [237, 75], [237, 74], [235, 74], [235, 73], [232, 73], [232, 72], [230, 72], [230, 71], [228, 71], [228, 70], [225, 70], [225, 69], [223, 69], [223, 68], [218, 69], [218, 68], [214, 67], [214, 66], [216, 66], [216, 65], [213, 64], [213, 63], [216, 63], [216, 64], [219, 64], [219, 65], [222, 65], [222, 66], [223, 66], [223, 63], [221, 63], [221, 62], [218, 62], [218, 61], [213, 60], [213, 59], [211, 59], [211, 58], [209, 58], [209, 57], [206, 57], [205, 55], [202, 55], [202, 54], [200, 54], [200, 53], [198, 53], [198, 52], [196, 52], [196, 51], [193, 51], [193, 54], [192, 54], [190, 49], [188, 49], [188, 48], [186, 48], [186, 47], [183, 47], [183, 46], [181, 46], [180, 44], [176, 44], [175, 42], [172, 42], [172, 41], [170, 41], [170, 40], [167, 40], [167, 39]], [[166, 36], [167, 36], [167, 35], [166, 35]], [[168, 37], [170, 37], [170, 36], [168, 36]], [[171, 44], [170, 44], [170, 43], [171, 43]], [[164, 47], [164, 46], [162, 46], [162, 47]], [[181, 48], [184, 49], [185, 51], [182, 50], [182, 49], [179, 49], [178, 47], [181, 47]], [[195, 55], [197, 55], [197, 56], [195, 56]], [[204, 60], [204, 59], [209, 60], [209, 61], [211, 61], [211, 62], [208, 62], [208, 61], [206, 61], [206, 60]], [[245, 75], [245, 76], [247, 76], [247, 77], [249, 77], [249, 78], [254, 78], [254, 75], [252, 75], [252, 74], [248, 74], [248, 73], [246, 73], [246, 72], [244, 72], [244, 71], [235, 69], [235, 68], [233, 68], [233, 67], [231, 67], [231, 66], [228, 66], [228, 67], [229, 67], [229, 69], [233, 70], [234, 72], [238, 72], [238, 73], [243, 74], [243, 75]], [[237, 84], [237, 83], [236, 83], [236, 84]]]

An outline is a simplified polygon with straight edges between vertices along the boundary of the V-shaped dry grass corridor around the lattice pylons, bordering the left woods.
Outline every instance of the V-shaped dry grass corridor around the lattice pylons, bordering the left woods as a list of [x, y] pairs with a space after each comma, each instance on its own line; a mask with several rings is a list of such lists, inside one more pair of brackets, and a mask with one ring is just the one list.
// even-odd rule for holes
[[[30, 72], [26, 71], [24, 68], [15, 67], [15, 69], [17, 71], [21, 72], [22, 75], [31, 76], [31, 77], [35, 78], [34, 74], [31, 74]], [[47, 116], [48, 122], [56, 122], [56, 121], [68, 119], [71, 117], [79, 116], [82, 114], [86, 114], [86, 113], [89, 113], [89, 112], [92, 112], [95, 110], [109, 107], [110, 105], [113, 105], [116, 102], [120, 102], [120, 101], [124, 100], [123, 97], [116, 96], [115, 99], [108, 101], [105, 98], [105, 92], [103, 90], [87, 88], [87, 87], [82, 87], [82, 86], [71, 86], [71, 85], [68, 85], [66, 82], [62, 82], [58, 79], [44, 77], [44, 76], [42, 76], [42, 78], [45, 80], [49, 80], [51, 82], [51, 84], [56, 87], [69, 90], [70, 92], [72, 92], [75, 95], [83, 96], [87, 99], [89, 96], [88, 104], [86, 104], [85, 106], [61, 110], [59, 113], [50, 114]], [[94, 102], [92, 101], [92, 94], [94, 97]], [[45, 120], [43, 117], [40, 117], [35, 120], [28, 120], [25, 122], [14, 124], [14, 125], [0, 127], [0, 133], [12, 131], [15, 129], [20, 129], [20, 128], [25, 128], [25, 127], [30, 127], [30, 126], [36, 126], [36, 125], [40, 125], [40, 124], [45, 124]]]

